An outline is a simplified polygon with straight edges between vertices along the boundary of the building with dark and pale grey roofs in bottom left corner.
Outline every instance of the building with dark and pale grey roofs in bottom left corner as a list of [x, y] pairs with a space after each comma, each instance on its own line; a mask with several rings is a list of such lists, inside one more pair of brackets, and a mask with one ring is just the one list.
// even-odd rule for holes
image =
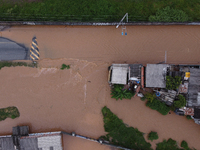
[[0, 136], [0, 150], [62, 150], [59, 132], [29, 134], [28, 126], [13, 127], [13, 134]]

